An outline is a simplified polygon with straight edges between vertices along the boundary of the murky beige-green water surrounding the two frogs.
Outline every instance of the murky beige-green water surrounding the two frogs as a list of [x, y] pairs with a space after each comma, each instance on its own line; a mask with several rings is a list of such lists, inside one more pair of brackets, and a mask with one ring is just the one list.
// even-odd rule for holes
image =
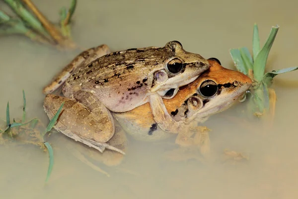
[[[52, 21], [58, 21], [58, 10], [69, 1], [34, 2]], [[112, 50], [179, 40], [187, 51], [217, 57], [224, 67], [232, 68], [228, 50], [251, 48], [254, 22], [259, 25], [262, 44], [271, 26], [278, 24], [268, 61], [273, 70], [297, 66], [297, 5], [290, 0], [79, 0], [73, 37], [84, 48], [106, 43]], [[5, 7], [2, 2], [0, 7]], [[58, 52], [23, 37], [0, 37], [0, 117], [5, 117], [7, 100], [11, 117], [21, 116], [24, 89], [28, 116], [47, 123], [42, 88], [76, 53]], [[237, 116], [236, 107], [205, 123], [212, 129], [211, 150], [216, 158], [212, 164], [170, 161], [162, 155], [167, 146], [130, 139], [120, 167], [102, 166], [111, 175], [108, 178], [75, 158], [69, 145], [79, 145], [57, 133], [47, 138], [54, 147], [55, 165], [46, 186], [46, 153], [30, 145], [0, 147], [1, 198], [297, 198], [297, 75], [292, 72], [276, 78], [273, 88], [278, 101], [270, 131], [264, 133], [256, 123], [230, 119]], [[223, 164], [219, 160], [224, 149], [246, 154], [249, 160]]]

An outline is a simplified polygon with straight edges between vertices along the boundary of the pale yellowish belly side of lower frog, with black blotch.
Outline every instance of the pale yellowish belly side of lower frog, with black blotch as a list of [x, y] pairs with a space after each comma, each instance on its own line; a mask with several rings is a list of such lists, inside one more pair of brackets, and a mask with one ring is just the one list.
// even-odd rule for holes
[[139, 117], [129, 112], [113, 113], [113, 116], [125, 132], [134, 139], [141, 141], [158, 141], [174, 135], [161, 130], [153, 120], [153, 117]]

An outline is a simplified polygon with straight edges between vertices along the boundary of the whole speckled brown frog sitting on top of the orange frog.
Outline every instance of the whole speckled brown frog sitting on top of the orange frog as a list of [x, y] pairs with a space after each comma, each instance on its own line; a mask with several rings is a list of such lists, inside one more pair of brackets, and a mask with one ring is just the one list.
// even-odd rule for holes
[[65, 102], [56, 129], [101, 152], [105, 148], [117, 150], [106, 144], [115, 131], [110, 111], [130, 111], [149, 102], [161, 129], [181, 131], [180, 121], [167, 112], [162, 98], [173, 98], [180, 86], [206, 71], [209, 62], [185, 51], [178, 41], [161, 48], [128, 49], [102, 56], [105, 53], [109, 53], [106, 45], [81, 53], [44, 89], [44, 93], [51, 93], [65, 82], [65, 97], [48, 95], [44, 101], [49, 117]]

